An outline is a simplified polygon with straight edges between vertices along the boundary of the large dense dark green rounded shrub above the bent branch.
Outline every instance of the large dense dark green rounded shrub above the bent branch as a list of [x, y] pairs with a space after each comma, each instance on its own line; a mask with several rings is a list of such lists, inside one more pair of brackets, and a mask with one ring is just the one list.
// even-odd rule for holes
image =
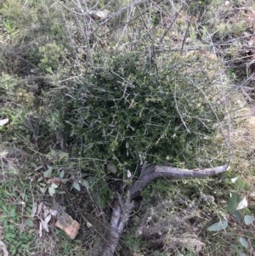
[[[191, 74], [172, 58], [152, 71], [139, 54], [109, 55], [106, 61], [97, 55], [94, 70], [65, 88], [70, 97], [62, 103], [54, 98], [59, 123], [82, 156], [113, 159], [120, 168], [132, 168], [139, 157], [150, 163], [194, 159], [196, 144], [213, 133], [216, 120], [202, 95], [210, 84], [206, 73]], [[53, 117], [50, 109], [48, 114]]]

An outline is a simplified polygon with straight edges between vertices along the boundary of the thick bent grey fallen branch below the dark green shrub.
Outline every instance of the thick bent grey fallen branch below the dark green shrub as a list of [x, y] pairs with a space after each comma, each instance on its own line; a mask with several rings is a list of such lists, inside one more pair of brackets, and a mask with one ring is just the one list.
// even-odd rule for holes
[[[145, 163], [146, 164], [146, 163]], [[144, 167], [145, 167], [144, 164]], [[139, 194], [139, 191], [143, 190], [146, 185], [159, 177], [173, 177], [173, 179], [184, 179], [184, 178], [194, 178], [194, 177], [207, 177], [215, 174], [222, 174], [227, 171], [229, 165], [218, 166], [215, 168], [205, 168], [205, 169], [181, 169], [174, 168], [172, 166], [160, 166], [155, 165], [149, 168], [143, 168], [139, 179], [133, 184], [129, 191], [126, 201], [122, 202], [119, 199], [120, 204], [113, 209], [111, 216], [111, 224], [108, 232], [108, 237], [106, 237], [105, 246], [103, 247], [102, 256], [112, 256], [116, 251], [117, 243], [122, 236], [124, 227], [129, 219], [129, 215], [132, 211], [133, 204], [132, 199]]]

